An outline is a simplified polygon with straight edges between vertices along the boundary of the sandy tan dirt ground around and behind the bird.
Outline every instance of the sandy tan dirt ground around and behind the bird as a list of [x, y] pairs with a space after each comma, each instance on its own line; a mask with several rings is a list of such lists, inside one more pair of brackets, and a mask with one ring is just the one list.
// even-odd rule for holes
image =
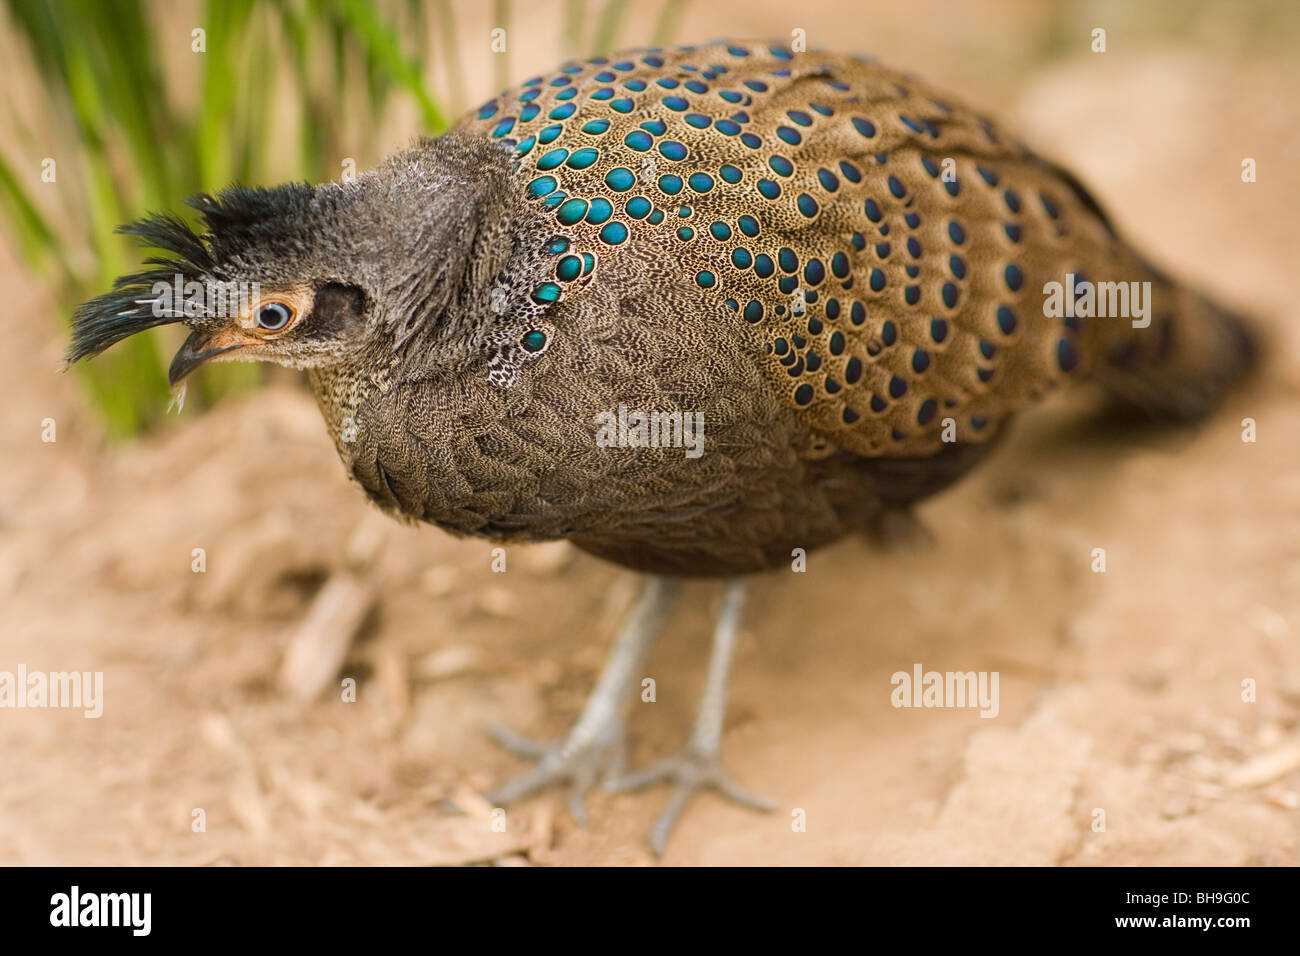
[[[1112, 434], [1087, 397], [1058, 402], [922, 509], [932, 546], [848, 542], [757, 581], [723, 753], [780, 809], [699, 797], [664, 862], [1295, 865], [1300, 108], [1283, 91], [1300, 70], [1231, 16], [1022, 66], [1034, 4], [863, 8], [849, 26], [809, 7], [810, 42], [913, 65], [1074, 166], [1157, 261], [1258, 317], [1266, 365], [1199, 431]], [[767, 3], [745, 23], [692, 7], [679, 36], [792, 29]], [[489, 721], [550, 736], [573, 719], [634, 575], [563, 544], [511, 548], [495, 574], [488, 542], [380, 516], [291, 376], [110, 445], [8, 247], [0, 282], [0, 670], [105, 682], [99, 719], [0, 710], [0, 864], [653, 861], [663, 790], [593, 795], [586, 829], [551, 792], [506, 832], [467, 799], [523, 769]], [[356, 701], [302, 704], [277, 683], [286, 648], [363, 553], [377, 606], [337, 675]], [[654, 652], [634, 765], [684, 741], [719, 596], [690, 585]], [[892, 708], [890, 675], [916, 662], [998, 671], [998, 715]]]

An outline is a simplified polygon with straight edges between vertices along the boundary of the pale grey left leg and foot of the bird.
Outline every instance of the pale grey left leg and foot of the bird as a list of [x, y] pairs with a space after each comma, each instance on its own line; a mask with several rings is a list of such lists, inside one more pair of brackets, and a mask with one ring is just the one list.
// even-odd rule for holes
[[646, 650], [663, 630], [681, 585], [666, 578], [646, 581], [641, 597], [592, 689], [582, 714], [556, 741], [530, 740], [500, 724], [489, 727], [497, 743], [511, 753], [537, 761], [537, 766], [507, 780], [484, 797], [497, 806], [521, 800], [555, 783], [569, 784], [568, 808], [586, 825], [586, 795], [606, 775], [623, 773], [627, 765], [627, 731], [623, 710]]

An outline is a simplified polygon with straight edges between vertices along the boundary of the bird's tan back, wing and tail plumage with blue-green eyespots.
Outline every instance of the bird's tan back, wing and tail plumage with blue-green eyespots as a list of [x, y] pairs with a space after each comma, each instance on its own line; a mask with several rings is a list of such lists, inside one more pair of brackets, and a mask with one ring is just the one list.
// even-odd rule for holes
[[[1088, 373], [1195, 414], [1248, 359], [1236, 324], [1152, 269], [1072, 176], [868, 59], [740, 43], [598, 57], [459, 130], [512, 144], [528, 202], [572, 238], [538, 302], [654, 243], [675, 281], [759, 330], [766, 382], [826, 454], [982, 444]], [[1112, 306], [1147, 297], [1071, 313], [1104, 282], [1124, 285]]]

